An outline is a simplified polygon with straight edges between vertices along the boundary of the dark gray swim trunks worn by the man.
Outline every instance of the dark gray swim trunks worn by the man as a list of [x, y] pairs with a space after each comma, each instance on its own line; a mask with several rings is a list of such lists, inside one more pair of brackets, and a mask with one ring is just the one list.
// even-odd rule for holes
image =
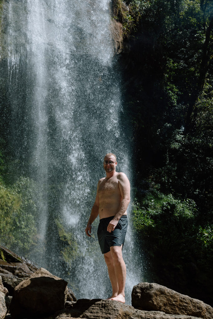
[[100, 219], [100, 223], [98, 225], [97, 235], [102, 254], [108, 253], [108, 251], [110, 251], [110, 247], [112, 246], [124, 245], [128, 226], [127, 216], [121, 216], [113, 232], [109, 233], [107, 231], [107, 226], [113, 217], [114, 216], [110, 216]]

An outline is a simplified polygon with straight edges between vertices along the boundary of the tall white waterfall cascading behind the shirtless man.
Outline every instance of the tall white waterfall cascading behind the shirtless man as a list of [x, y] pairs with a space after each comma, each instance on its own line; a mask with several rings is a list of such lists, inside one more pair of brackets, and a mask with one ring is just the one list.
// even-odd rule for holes
[[[84, 231], [97, 182], [105, 176], [107, 152], [117, 155], [117, 171], [126, 173], [133, 186], [109, 7], [109, 0], [4, 4], [7, 134], [20, 169], [40, 193], [40, 249], [31, 258], [66, 279], [78, 298], [110, 295], [97, 242], [98, 220], [91, 238]], [[71, 247], [63, 246], [65, 237]], [[133, 285], [141, 281], [131, 226], [123, 255], [126, 302], [131, 304]]]

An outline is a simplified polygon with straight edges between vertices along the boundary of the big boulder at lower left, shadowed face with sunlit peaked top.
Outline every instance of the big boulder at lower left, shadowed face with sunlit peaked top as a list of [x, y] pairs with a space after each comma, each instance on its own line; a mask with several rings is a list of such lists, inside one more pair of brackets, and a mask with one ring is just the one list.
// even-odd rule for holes
[[10, 304], [12, 317], [47, 316], [64, 309], [67, 282], [40, 268], [15, 287]]

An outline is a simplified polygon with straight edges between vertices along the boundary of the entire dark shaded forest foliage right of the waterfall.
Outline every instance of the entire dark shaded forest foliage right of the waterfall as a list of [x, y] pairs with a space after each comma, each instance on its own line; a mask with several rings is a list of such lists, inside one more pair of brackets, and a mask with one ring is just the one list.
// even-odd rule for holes
[[212, 303], [213, 2], [127, 4], [137, 28], [122, 56], [133, 224], [152, 280]]

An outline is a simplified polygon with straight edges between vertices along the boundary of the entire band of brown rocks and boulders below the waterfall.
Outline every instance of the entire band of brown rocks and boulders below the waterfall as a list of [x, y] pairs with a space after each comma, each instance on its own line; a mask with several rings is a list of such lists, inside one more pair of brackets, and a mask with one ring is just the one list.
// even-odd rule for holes
[[134, 286], [132, 306], [102, 299], [77, 300], [65, 280], [4, 247], [0, 251], [0, 319], [213, 318], [209, 305], [155, 283]]

